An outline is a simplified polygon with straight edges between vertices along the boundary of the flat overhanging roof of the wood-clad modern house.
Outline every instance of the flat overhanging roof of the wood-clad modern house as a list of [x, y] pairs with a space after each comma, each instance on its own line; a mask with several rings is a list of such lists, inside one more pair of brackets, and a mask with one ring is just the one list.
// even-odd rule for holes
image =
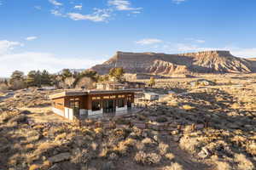
[[140, 88], [130, 88], [130, 89], [116, 89], [116, 90], [65, 90], [64, 92], [58, 94], [49, 95], [49, 99], [63, 98], [66, 96], [83, 96], [88, 94], [121, 94], [129, 92], [140, 92], [143, 89]]

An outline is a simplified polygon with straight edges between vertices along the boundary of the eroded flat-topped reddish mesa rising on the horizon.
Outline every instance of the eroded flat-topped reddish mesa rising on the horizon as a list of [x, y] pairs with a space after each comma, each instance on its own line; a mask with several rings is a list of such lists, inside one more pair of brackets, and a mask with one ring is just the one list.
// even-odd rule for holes
[[91, 69], [106, 74], [113, 67], [123, 67], [127, 73], [250, 73], [254, 60], [238, 58], [229, 51], [204, 51], [188, 54], [156, 54], [117, 52], [102, 65]]

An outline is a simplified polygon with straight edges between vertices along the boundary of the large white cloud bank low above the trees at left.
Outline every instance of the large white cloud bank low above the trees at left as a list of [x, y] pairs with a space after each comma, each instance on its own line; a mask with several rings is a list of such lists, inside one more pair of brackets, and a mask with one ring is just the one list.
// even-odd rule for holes
[[25, 52], [20, 54], [3, 54], [0, 55], [0, 77], [8, 77], [15, 70], [27, 73], [32, 70], [45, 69], [55, 73], [63, 68], [90, 68], [90, 66], [102, 62], [102, 59], [59, 58], [55, 54], [48, 53]]

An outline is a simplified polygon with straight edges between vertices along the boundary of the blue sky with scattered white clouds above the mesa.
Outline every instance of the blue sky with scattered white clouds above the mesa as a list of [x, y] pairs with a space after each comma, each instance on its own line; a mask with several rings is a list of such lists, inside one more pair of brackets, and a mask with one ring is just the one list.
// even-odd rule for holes
[[255, 0], [0, 0], [0, 77], [89, 68], [116, 51], [256, 57]]

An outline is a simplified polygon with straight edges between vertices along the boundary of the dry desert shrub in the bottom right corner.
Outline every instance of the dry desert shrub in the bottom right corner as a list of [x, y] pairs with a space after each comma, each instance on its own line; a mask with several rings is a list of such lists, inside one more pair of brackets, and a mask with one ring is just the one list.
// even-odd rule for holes
[[253, 170], [253, 162], [248, 160], [243, 154], [236, 154], [235, 161], [238, 162], [237, 169], [239, 170]]

